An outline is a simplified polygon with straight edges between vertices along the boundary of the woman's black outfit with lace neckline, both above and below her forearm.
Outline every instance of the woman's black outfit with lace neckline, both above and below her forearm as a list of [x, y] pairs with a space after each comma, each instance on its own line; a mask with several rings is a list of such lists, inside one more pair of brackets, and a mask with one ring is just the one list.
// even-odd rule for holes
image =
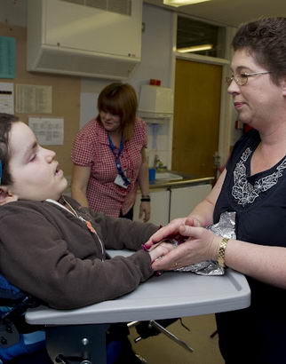
[[[286, 158], [250, 176], [251, 156], [259, 142], [258, 131], [250, 131], [235, 144], [214, 223], [222, 212], [236, 211], [237, 239], [286, 247]], [[286, 364], [286, 290], [246, 278], [250, 307], [217, 314], [220, 350], [227, 364]]]

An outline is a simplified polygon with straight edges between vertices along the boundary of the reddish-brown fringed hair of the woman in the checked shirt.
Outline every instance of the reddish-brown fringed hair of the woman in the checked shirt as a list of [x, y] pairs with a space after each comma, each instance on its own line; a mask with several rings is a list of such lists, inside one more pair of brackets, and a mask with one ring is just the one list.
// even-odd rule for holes
[[[125, 140], [130, 139], [133, 134], [137, 107], [136, 91], [128, 83], [108, 84], [99, 94], [99, 112], [104, 111], [120, 116]], [[98, 120], [100, 122], [100, 117]]]

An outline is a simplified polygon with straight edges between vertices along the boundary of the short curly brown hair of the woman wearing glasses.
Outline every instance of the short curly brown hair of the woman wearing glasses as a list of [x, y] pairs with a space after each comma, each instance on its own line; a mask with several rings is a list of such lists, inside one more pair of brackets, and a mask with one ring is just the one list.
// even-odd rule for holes
[[279, 84], [286, 75], [286, 18], [261, 18], [242, 24], [233, 39], [234, 51], [245, 49]]

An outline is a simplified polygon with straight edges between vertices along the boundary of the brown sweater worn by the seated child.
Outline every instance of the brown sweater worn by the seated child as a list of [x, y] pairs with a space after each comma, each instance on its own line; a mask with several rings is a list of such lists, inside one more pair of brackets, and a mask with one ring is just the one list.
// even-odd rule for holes
[[20, 289], [58, 309], [120, 297], [154, 272], [141, 244], [158, 229], [152, 224], [110, 218], [81, 209], [104, 249], [132, 249], [130, 257], [102, 258], [95, 233], [52, 202], [20, 201], [0, 207], [0, 272]]

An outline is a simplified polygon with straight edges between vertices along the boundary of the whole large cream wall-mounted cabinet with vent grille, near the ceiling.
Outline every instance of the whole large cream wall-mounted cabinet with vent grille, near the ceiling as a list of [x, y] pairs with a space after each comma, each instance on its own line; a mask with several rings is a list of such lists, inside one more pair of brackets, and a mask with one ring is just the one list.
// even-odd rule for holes
[[80, 3], [28, 0], [28, 70], [128, 78], [141, 59], [142, 0]]

